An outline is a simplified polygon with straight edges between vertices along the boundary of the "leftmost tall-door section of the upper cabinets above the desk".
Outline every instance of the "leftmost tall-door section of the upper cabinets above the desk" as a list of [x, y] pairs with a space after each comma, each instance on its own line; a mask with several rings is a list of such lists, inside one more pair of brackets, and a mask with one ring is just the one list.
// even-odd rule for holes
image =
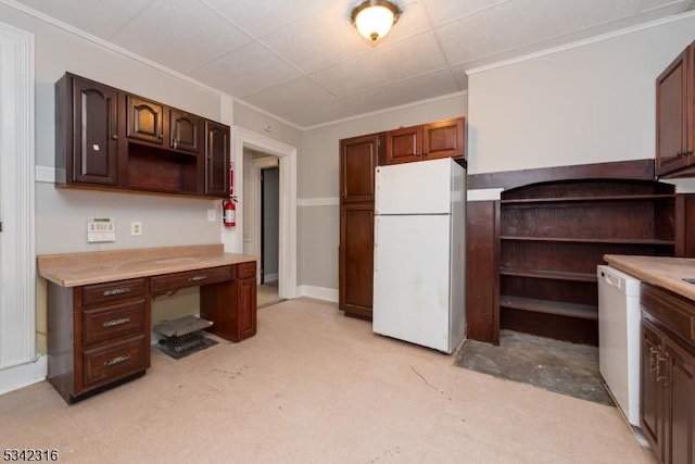
[[67, 75], [56, 83], [56, 181], [118, 181], [118, 91]]

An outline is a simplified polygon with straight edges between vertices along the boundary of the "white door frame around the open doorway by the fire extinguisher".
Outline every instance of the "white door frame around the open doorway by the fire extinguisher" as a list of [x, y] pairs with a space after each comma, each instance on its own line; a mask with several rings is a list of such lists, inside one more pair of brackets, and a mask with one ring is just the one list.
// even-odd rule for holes
[[[278, 297], [296, 297], [296, 148], [242, 127], [233, 128], [235, 191], [243, 192], [243, 149], [268, 153], [280, 161], [280, 231], [278, 243]], [[241, 173], [241, 175], [240, 175]], [[237, 227], [232, 239], [243, 250], [243, 201], [237, 203]]]

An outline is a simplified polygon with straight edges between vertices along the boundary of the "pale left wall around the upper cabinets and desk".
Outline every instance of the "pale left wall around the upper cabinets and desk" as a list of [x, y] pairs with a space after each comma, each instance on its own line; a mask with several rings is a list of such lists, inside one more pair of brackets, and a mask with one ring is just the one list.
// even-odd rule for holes
[[[3, 23], [35, 35], [36, 164], [54, 167], [54, 83], [65, 72], [101, 81], [202, 116], [219, 120], [220, 96], [172, 74], [117, 53], [91, 40], [0, 4]], [[48, 170], [42, 170], [48, 168]], [[159, 247], [220, 241], [220, 225], [208, 222], [206, 210], [217, 201], [177, 197], [58, 189], [36, 184], [36, 251], [38, 254], [105, 249]], [[87, 217], [110, 216], [116, 241], [90, 244]], [[129, 223], [142, 222], [143, 235], [130, 237]], [[174, 297], [169, 308], [195, 312], [190, 296]], [[37, 344], [46, 353], [46, 283], [37, 279]]]

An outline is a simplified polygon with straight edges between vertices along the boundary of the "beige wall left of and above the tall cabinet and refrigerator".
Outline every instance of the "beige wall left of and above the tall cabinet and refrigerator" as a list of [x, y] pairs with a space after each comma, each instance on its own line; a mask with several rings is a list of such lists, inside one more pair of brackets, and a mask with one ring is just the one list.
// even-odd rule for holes
[[300, 285], [338, 290], [339, 140], [457, 117], [466, 111], [463, 93], [304, 131], [298, 158]]

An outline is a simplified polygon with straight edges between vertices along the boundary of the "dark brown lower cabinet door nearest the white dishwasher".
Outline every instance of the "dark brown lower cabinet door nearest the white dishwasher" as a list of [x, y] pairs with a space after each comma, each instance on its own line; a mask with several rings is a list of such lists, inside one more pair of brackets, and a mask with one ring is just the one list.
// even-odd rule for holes
[[[664, 447], [664, 388], [658, 377], [662, 374], [659, 360], [661, 355], [661, 337], [647, 321], [642, 322], [641, 385], [640, 385], [640, 425], [642, 432], [649, 441], [658, 456]], [[659, 372], [657, 372], [657, 366]]]

